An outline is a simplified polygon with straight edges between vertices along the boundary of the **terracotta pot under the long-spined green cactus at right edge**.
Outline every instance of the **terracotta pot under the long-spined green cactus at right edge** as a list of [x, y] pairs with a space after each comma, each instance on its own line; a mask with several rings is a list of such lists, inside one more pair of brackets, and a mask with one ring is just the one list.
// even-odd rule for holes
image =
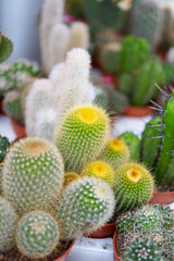
[[149, 203], [170, 204], [174, 202], [174, 191], [171, 192], [153, 192]]

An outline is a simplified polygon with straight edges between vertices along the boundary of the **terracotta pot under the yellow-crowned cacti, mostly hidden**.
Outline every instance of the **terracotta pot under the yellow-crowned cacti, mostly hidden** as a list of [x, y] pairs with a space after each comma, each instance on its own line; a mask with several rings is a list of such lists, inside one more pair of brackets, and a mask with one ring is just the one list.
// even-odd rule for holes
[[112, 237], [115, 231], [115, 223], [105, 224], [101, 226], [96, 232], [91, 233], [88, 237], [91, 238], [105, 238], [105, 237]]

